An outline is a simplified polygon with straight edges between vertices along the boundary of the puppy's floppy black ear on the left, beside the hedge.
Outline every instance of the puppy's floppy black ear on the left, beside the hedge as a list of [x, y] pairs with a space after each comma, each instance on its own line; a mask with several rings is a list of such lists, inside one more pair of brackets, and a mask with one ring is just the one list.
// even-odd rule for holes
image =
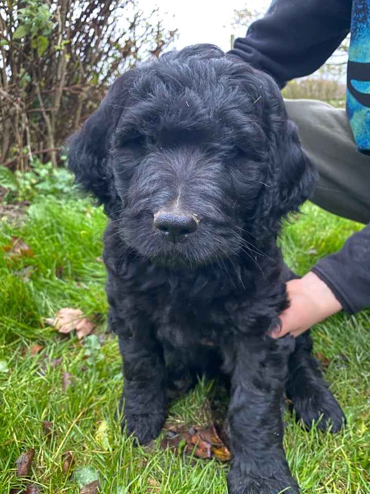
[[124, 110], [134, 72], [130, 70], [114, 82], [98, 110], [66, 142], [68, 168], [75, 174], [76, 182], [103, 203], [108, 214], [117, 202], [112, 174], [107, 167], [110, 141]]

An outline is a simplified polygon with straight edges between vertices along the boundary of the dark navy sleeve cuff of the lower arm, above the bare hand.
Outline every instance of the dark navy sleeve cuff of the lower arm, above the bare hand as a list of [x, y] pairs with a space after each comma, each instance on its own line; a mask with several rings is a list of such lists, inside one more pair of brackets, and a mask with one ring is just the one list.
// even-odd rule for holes
[[350, 237], [336, 254], [311, 269], [334, 293], [343, 309], [356, 314], [370, 306], [370, 223]]

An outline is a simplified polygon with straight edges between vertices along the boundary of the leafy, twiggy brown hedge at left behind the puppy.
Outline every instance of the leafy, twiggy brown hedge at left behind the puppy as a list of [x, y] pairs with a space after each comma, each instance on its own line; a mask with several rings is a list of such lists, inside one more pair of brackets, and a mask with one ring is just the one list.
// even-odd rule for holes
[[110, 83], [175, 36], [136, 0], [0, 0], [0, 154], [58, 164], [61, 143]]

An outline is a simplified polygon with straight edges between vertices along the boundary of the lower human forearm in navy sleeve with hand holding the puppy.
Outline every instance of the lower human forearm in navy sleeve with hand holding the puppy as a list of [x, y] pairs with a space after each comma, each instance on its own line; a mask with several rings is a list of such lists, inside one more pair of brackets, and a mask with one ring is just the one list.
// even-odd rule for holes
[[370, 306], [370, 224], [350, 237], [343, 248], [319, 261], [303, 278], [287, 282], [290, 307], [282, 329], [271, 336], [299, 336], [342, 308], [354, 314]]

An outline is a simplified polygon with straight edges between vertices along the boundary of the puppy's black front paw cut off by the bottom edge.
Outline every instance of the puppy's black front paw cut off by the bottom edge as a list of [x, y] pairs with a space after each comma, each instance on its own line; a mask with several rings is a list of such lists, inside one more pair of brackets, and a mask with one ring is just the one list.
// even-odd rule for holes
[[229, 494], [300, 494], [297, 482], [290, 477], [287, 479], [266, 479], [252, 475], [228, 475]]

